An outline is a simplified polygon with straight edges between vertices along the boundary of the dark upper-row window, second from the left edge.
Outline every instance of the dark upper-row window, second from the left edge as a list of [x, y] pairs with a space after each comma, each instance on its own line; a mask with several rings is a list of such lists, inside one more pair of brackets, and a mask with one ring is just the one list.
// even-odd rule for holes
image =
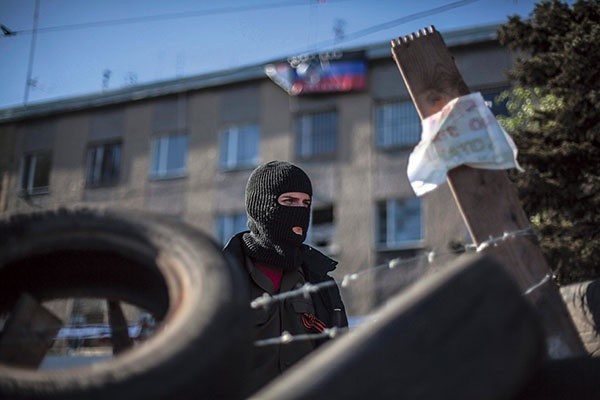
[[121, 143], [103, 143], [88, 147], [87, 186], [114, 185], [121, 171]]

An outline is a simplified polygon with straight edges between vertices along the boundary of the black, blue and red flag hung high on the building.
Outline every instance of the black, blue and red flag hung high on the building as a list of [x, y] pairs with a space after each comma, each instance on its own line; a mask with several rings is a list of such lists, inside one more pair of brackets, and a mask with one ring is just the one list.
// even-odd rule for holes
[[364, 52], [329, 53], [290, 57], [269, 64], [265, 73], [292, 96], [363, 90], [367, 86]]

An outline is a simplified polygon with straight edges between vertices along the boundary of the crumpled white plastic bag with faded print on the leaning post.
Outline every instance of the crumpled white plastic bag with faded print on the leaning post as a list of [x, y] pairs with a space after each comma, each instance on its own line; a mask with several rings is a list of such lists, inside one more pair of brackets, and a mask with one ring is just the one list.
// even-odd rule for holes
[[483, 169], [522, 168], [517, 147], [502, 129], [481, 93], [450, 101], [422, 122], [421, 141], [408, 160], [408, 179], [417, 196], [445, 182], [459, 165]]

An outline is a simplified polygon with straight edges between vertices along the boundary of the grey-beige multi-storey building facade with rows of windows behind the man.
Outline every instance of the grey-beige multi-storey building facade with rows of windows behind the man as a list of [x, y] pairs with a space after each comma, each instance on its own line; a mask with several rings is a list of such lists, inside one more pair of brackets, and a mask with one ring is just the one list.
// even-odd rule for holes
[[[471, 91], [489, 99], [510, 86], [512, 64], [495, 29], [443, 35]], [[420, 127], [389, 44], [360, 50], [359, 91], [292, 96], [256, 65], [0, 110], [0, 212], [144, 209], [223, 242], [245, 225], [252, 169], [279, 159], [312, 178], [309, 241], [340, 262], [339, 280], [464, 243], [449, 189], [417, 198], [408, 182]], [[351, 312], [384, 300], [387, 280], [344, 289]]]

